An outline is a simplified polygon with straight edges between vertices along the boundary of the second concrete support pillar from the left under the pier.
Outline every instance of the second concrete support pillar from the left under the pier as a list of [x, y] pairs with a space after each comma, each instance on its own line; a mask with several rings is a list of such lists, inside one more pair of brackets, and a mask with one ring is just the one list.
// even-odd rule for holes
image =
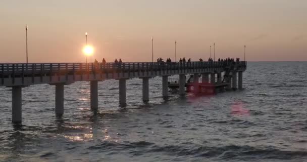
[[56, 115], [64, 113], [64, 84], [56, 84]]

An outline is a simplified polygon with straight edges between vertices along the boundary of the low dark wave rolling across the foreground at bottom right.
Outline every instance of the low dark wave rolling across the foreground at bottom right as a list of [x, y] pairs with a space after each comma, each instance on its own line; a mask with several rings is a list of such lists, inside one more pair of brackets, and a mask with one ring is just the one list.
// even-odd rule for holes
[[[273, 146], [253, 147], [248, 145], [226, 145], [221, 147], [209, 147], [203, 145], [196, 145], [193, 143], [181, 143], [182, 145], [157, 145], [147, 141], [139, 142], [110, 142], [95, 146], [90, 146], [88, 149], [99, 151], [127, 151], [131, 149], [130, 153], [134, 155], [142, 155], [144, 153], [165, 153], [173, 156], [196, 156], [207, 158], [222, 158], [229, 159], [233, 157], [243, 158], [258, 158], [258, 159], [293, 159], [293, 158], [307, 158], [307, 151], [298, 150], [280, 150]], [[141, 149], [137, 149], [141, 148]]]

